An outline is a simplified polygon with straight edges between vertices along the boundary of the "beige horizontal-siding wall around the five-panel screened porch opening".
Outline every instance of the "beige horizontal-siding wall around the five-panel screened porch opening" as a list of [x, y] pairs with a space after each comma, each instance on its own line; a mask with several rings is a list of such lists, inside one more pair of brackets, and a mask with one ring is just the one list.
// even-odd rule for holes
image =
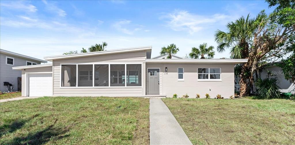
[[[135, 51], [99, 56], [60, 59], [53, 61], [53, 96], [142, 96], [145, 94], [145, 59], [146, 51]], [[60, 87], [61, 64], [142, 64], [142, 87]], [[78, 76], [77, 76], [78, 78]]]

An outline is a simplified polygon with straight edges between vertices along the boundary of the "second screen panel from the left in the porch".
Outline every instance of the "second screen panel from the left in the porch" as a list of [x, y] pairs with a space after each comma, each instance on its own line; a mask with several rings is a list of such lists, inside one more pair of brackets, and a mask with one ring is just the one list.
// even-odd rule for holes
[[78, 86], [93, 86], [92, 76], [90, 75], [92, 69], [92, 64], [78, 65]]

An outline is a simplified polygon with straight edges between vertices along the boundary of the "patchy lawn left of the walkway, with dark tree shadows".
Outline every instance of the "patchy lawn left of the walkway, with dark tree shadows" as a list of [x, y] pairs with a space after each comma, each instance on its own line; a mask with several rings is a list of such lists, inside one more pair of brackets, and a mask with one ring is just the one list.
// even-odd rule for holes
[[149, 99], [24, 99], [0, 114], [0, 144], [149, 144]]

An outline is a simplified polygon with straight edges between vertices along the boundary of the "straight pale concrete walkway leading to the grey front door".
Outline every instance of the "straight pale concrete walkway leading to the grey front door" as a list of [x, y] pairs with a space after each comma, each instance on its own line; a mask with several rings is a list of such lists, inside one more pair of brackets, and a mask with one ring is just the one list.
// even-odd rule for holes
[[150, 99], [150, 144], [192, 145], [181, 126], [161, 99]]

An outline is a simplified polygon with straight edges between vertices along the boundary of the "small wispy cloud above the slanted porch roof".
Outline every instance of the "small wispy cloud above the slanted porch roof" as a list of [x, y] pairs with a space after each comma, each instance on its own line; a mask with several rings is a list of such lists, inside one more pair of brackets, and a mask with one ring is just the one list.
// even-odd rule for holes
[[130, 35], [134, 34], [135, 31], [139, 31], [142, 29], [140, 27], [137, 27], [134, 29], [127, 29], [128, 24], [131, 24], [130, 20], [120, 20], [115, 22], [113, 27], [122, 33], [130, 34]]

